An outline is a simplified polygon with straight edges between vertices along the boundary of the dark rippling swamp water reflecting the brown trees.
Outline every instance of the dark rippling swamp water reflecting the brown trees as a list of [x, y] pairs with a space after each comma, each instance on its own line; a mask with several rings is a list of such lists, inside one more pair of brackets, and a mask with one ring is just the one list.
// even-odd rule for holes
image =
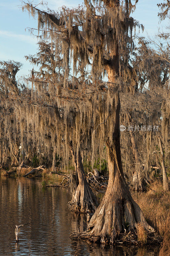
[[[41, 178], [0, 178], [0, 255], [158, 256], [159, 247], [101, 247], [75, 242], [70, 232], [83, 231], [83, 217], [71, 214], [69, 191], [42, 188]], [[15, 243], [15, 224], [22, 227]]]

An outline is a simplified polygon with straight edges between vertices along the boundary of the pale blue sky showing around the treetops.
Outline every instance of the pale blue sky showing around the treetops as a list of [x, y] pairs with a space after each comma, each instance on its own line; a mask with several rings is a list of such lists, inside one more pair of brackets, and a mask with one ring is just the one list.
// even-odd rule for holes
[[[39, 3], [37, 0], [35, 3]], [[82, 0], [48, 0], [50, 9], [57, 10], [60, 6], [74, 7], [82, 4]], [[157, 3], [161, 0], [139, 0], [132, 16], [144, 25], [144, 36], [154, 36], [158, 28], [165, 26], [166, 21], [159, 24]], [[23, 63], [18, 76], [28, 74], [32, 69], [24, 56], [35, 54], [37, 39], [30, 36], [27, 27], [37, 28], [36, 20], [19, 8], [19, 0], [0, 0], [0, 60], [15, 60]]]

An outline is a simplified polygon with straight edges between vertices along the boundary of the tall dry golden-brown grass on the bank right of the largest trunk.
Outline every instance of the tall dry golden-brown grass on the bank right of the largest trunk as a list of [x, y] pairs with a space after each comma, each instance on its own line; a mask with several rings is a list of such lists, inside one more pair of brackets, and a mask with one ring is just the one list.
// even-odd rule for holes
[[148, 223], [163, 237], [170, 208], [170, 192], [164, 192], [162, 184], [156, 181], [146, 193], [132, 192], [132, 197]]

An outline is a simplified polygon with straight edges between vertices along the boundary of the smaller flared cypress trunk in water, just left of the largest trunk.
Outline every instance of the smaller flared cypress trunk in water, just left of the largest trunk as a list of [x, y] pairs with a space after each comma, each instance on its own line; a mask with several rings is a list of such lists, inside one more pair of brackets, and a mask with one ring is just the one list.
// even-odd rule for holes
[[85, 178], [80, 150], [78, 150], [77, 156], [77, 173], [78, 186], [73, 193], [72, 200], [69, 202], [69, 208], [80, 213], [94, 212], [98, 202]]

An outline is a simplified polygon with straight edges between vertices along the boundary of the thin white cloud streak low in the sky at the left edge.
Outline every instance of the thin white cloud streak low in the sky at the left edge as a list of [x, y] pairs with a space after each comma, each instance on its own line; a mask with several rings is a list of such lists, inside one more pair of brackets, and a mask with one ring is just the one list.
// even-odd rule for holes
[[11, 37], [11, 38], [16, 39], [18, 41], [24, 41], [24, 42], [27, 42], [29, 44], [36, 44], [37, 43], [37, 39], [32, 37], [32, 36], [22, 35], [22, 34], [15, 34], [13, 32], [7, 31], [7, 30], [0, 30], [0, 36]]

